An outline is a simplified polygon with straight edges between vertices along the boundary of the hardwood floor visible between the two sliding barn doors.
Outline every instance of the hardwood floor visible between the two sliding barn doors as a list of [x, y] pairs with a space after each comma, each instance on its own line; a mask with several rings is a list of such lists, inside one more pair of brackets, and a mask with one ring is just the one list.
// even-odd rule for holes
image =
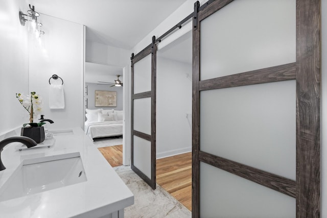
[[157, 159], [157, 183], [192, 211], [192, 153]]

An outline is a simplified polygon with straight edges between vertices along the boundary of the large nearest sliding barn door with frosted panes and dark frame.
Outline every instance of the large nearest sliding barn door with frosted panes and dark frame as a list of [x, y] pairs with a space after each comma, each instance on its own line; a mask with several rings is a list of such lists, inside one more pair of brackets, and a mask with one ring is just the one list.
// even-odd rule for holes
[[195, 4], [193, 217], [319, 217], [319, 7]]

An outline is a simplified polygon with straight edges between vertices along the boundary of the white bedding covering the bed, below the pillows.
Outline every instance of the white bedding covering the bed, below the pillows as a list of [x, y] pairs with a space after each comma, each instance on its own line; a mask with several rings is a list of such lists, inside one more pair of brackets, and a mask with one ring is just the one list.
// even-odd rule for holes
[[85, 122], [85, 133], [91, 139], [123, 135], [123, 120], [105, 122]]

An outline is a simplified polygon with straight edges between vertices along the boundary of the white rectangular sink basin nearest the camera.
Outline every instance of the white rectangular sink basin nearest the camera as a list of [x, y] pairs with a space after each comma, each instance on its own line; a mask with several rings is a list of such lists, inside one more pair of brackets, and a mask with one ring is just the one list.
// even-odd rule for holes
[[0, 201], [85, 182], [80, 153], [27, 159], [0, 188]]

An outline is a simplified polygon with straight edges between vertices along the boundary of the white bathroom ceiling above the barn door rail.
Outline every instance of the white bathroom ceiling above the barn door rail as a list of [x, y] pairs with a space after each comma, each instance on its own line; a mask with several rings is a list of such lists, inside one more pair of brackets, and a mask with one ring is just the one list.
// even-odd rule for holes
[[35, 11], [81, 23], [86, 40], [132, 49], [186, 0], [29, 0]]

